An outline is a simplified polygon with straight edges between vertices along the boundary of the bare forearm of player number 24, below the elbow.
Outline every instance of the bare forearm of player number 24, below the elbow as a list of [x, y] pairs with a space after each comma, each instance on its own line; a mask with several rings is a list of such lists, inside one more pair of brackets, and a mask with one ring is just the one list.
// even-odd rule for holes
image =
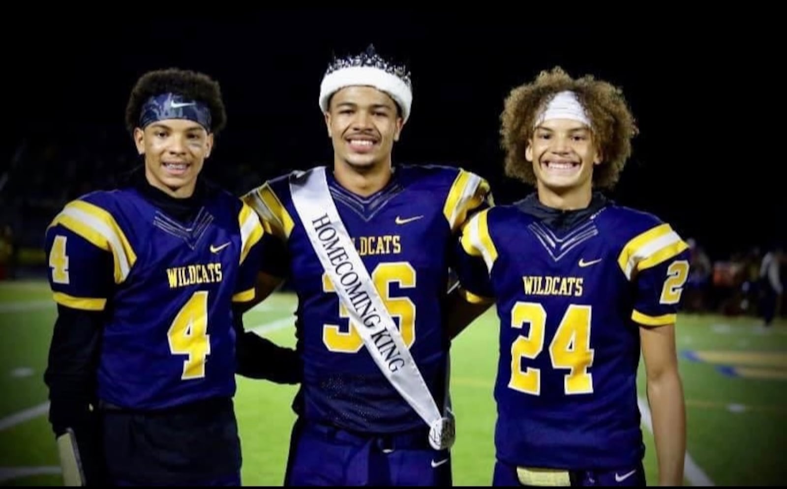
[[659, 483], [678, 486], [683, 483], [685, 458], [685, 403], [677, 371], [648, 379], [648, 402], [652, 413]]

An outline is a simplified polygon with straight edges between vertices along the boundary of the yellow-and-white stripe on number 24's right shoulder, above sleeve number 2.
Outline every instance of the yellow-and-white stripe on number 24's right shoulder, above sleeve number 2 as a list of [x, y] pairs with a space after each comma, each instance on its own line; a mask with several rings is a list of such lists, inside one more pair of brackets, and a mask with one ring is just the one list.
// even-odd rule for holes
[[618, 265], [626, 278], [638, 271], [656, 267], [678, 255], [689, 245], [675, 233], [669, 224], [660, 224], [631, 239], [618, 256]]

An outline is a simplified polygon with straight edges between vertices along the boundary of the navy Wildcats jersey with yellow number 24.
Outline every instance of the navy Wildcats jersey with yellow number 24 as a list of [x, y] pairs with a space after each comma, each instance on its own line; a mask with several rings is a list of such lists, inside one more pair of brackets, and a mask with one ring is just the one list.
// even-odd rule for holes
[[556, 469], [640, 461], [639, 327], [676, 320], [689, 271], [678, 233], [612, 203], [556, 233], [510, 205], [475, 215], [461, 248], [486, 265], [463, 286], [497, 301], [497, 457]]

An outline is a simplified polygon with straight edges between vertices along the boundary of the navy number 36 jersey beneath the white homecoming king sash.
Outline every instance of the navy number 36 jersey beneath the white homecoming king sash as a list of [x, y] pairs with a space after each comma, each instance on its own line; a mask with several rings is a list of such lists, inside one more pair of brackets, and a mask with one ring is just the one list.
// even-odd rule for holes
[[[360, 259], [386, 304], [435, 402], [442, 407], [449, 342], [441, 297], [457, 232], [468, 213], [490, 200], [487, 182], [453, 167], [396, 168], [369, 197], [350, 193], [326, 172], [331, 197]], [[397, 432], [423, 420], [380, 372], [349, 324], [290, 195], [290, 175], [244, 197], [264, 226], [281, 238], [297, 292], [297, 349], [304, 361], [303, 415], [360, 432]], [[264, 270], [280, 274], [275, 252], [263, 248]], [[284, 259], [286, 260], [286, 259]]]

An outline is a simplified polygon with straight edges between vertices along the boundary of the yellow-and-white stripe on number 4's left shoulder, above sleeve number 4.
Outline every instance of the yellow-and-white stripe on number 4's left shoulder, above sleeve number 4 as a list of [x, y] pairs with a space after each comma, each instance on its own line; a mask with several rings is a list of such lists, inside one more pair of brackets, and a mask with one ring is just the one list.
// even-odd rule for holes
[[109, 212], [83, 200], [73, 200], [58, 214], [50, 226], [60, 224], [90, 241], [102, 250], [112, 252], [115, 263], [115, 283], [128, 277], [137, 261], [126, 235]]

